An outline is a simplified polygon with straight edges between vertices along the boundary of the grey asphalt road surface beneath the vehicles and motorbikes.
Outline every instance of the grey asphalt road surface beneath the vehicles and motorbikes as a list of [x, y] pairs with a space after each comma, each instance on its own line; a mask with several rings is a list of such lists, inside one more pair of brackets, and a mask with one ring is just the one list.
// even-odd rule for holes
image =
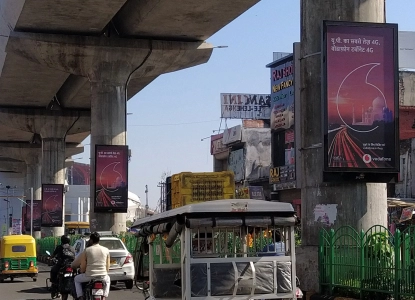
[[[45, 264], [38, 263], [39, 276], [36, 282], [31, 278], [16, 278], [13, 282], [6, 279], [0, 283], [0, 299], [4, 300], [45, 300], [51, 299], [50, 293], [46, 290], [46, 278], [49, 277], [49, 270]], [[69, 299], [72, 300], [71, 297]], [[112, 286], [109, 300], [144, 300], [143, 293], [134, 287], [132, 290], [126, 290], [124, 284]]]

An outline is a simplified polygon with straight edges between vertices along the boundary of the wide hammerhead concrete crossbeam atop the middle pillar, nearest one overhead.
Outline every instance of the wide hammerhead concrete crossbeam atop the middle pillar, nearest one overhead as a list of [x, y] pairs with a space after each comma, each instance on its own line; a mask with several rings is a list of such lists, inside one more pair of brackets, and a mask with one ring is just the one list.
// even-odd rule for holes
[[133, 78], [154, 78], [206, 63], [212, 50], [212, 45], [200, 41], [131, 40], [21, 32], [11, 33], [6, 47], [8, 53], [90, 80], [90, 76], [99, 71], [101, 62], [116, 59], [121, 63], [122, 60], [121, 68], [129, 67], [133, 71], [140, 66]]

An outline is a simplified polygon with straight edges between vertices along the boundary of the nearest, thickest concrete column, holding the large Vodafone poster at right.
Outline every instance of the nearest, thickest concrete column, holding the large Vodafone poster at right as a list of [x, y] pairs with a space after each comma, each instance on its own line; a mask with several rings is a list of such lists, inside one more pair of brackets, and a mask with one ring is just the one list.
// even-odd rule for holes
[[[384, 22], [384, 0], [301, 1], [301, 148], [302, 148], [302, 245], [305, 264], [299, 257], [297, 270], [302, 288], [318, 289], [317, 245], [320, 222], [315, 221], [318, 204], [337, 205], [333, 228], [350, 225], [368, 229], [387, 225], [387, 191], [384, 183], [323, 182], [321, 110], [321, 27], [323, 20]], [[301, 270], [305, 270], [301, 274]], [[301, 276], [304, 276], [301, 278]], [[304, 287], [303, 287], [304, 283]]]

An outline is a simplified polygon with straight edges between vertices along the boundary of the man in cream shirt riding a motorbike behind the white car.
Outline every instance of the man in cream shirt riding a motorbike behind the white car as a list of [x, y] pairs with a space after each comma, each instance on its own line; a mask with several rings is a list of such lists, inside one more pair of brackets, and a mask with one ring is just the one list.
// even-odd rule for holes
[[110, 290], [110, 277], [108, 271], [110, 267], [110, 253], [108, 248], [99, 244], [100, 235], [93, 232], [90, 235], [91, 246], [85, 249], [85, 255], [81, 257], [81, 273], [75, 277], [75, 289], [78, 300], [83, 300], [82, 283], [92, 279], [103, 280], [104, 299], [108, 297]]

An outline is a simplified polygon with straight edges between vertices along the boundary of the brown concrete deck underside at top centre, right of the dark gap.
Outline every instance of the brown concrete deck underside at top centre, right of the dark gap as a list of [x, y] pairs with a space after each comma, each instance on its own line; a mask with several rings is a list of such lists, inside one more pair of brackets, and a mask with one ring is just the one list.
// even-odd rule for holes
[[114, 18], [122, 36], [204, 41], [259, 0], [127, 1]]

